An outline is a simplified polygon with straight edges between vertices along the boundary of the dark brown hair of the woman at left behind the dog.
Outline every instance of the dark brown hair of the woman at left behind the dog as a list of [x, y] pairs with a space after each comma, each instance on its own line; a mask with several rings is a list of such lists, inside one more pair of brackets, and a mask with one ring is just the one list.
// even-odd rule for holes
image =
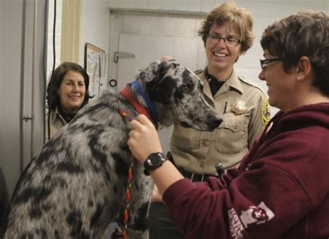
[[55, 71], [53, 71], [51, 75], [51, 79], [47, 86], [47, 108], [49, 110], [56, 109], [58, 105], [60, 104], [60, 97], [57, 94], [57, 89], [60, 87], [60, 84], [62, 83], [62, 80], [64, 76], [69, 71], [75, 71], [76, 73], [80, 73], [83, 76], [83, 79], [85, 80], [85, 98], [83, 99], [83, 103], [81, 104], [81, 107], [86, 105], [88, 103], [88, 100], [92, 98], [89, 94], [89, 76], [85, 69], [81, 67], [81, 65], [76, 64], [74, 62], [64, 62], [60, 64]]

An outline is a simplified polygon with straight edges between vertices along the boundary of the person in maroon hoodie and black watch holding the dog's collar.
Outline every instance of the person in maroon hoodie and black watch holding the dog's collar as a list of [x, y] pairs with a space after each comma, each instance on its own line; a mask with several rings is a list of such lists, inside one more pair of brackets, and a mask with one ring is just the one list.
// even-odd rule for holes
[[165, 160], [143, 115], [128, 145], [186, 238], [329, 238], [329, 16], [300, 11], [261, 39], [274, 116], [239, 168], [203, 183]]

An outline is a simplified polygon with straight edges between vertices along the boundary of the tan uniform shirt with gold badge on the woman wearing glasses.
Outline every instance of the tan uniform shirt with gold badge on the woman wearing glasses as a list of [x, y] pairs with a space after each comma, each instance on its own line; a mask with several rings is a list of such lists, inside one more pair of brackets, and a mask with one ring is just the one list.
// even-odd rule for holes
[[[221, 114], [223, 123], [213, 132], [174, 125], [171, 153], [178, 167], [199, 175], [217, 175], [215, 163], [221, 162], [224, 168], [236, 166], [262, 133], [262, 105], [267, 103], [267, 95], [251, 80], [237, 76], [233, 71], [212, 97], [204, 70], [196, 71], [196, 74], [204, 82], [205, 100]], [[231, 111], [231, 105], [237, 100], [244, 101], [247, 107], [240, 115]]]

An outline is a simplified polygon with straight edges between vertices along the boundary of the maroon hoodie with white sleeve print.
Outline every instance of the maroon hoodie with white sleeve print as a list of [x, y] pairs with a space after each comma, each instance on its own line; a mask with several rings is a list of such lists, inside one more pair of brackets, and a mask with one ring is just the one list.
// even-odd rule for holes
[[329, 103], [278, 112], [239, 168], [163, 200], [187, 238], [329, 238]]

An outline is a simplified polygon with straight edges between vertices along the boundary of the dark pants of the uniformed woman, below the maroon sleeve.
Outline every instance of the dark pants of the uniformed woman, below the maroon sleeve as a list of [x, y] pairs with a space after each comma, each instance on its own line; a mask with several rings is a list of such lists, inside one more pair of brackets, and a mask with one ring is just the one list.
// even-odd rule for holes
[[162, 202], [151, 203], [149, 210], [150, 239], [184, 239], [183, 233], [169, 218], [167, 206]]

